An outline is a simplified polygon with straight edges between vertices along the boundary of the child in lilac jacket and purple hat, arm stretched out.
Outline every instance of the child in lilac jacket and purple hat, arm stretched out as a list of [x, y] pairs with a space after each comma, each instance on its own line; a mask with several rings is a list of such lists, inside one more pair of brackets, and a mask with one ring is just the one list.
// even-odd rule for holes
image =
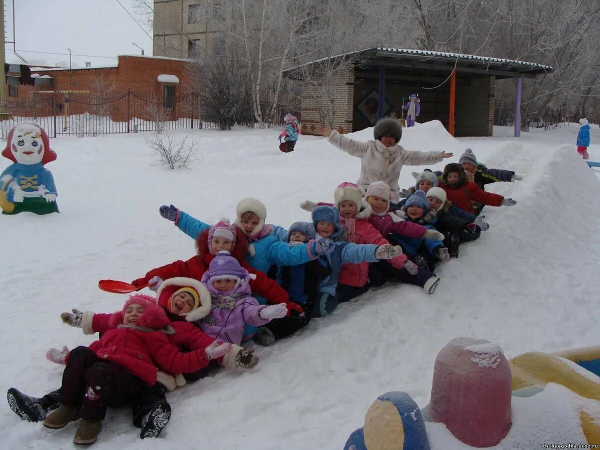
[[245, 323], [262, 326], [285, 317], [285, 304], [261, 305], [251, 296], [249, 283], [254, 277], [229, 253], [217, 254], [202, 275], [202, 284], [211, 293], [211, 312], [194, 323], [215, 339], [239, 345]]

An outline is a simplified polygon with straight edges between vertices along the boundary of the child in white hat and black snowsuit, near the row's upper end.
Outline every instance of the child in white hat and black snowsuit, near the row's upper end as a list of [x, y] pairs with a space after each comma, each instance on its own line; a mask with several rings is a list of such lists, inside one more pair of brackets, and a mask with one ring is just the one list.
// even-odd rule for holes
[[481, 235], [481, 230], [490, 227], [483, 221], [484, 215], [477, 218], [472, 216], [473, 220], [464, 220], [451, 214], [452, 203], [447, 200], [446, 191], [442, 188], [429, 189], [426, 197], [430, 211], [436, 212], [436, 229], [445, 236], [443, 242], [452, 258], [458, 258], [458, 247], [462, 242], [475, 241]]

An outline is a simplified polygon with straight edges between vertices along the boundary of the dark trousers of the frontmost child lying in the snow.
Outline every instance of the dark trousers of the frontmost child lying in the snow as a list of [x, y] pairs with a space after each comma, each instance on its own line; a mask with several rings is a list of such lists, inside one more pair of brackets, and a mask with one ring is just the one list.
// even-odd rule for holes
[[82, 419], [101, 421], [109, 406], [130, 403], [145, 386], [139, 377], [79, 346], [71, 350], [62, 373], [59, 400], [66, 406], [80, 407]]

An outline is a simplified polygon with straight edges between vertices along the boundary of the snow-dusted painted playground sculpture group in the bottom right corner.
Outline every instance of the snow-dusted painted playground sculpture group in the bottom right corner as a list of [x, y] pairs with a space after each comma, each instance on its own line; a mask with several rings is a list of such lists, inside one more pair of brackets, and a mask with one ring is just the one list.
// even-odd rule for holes
[[542, 437], [598, 445], [599, 374], [600, 346], [506, 361], [490, 341], [456, 338], [437, 355], [427, 407], [383, 394], [344, 450], [535, 448]]

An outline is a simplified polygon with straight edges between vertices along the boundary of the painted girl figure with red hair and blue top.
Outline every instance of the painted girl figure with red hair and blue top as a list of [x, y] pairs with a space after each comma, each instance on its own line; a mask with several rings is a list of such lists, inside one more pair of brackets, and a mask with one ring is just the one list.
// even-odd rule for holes
[[35, 122], [19, 122], [8, 133], [2, 156], [14, 163], [0, 175], [2, 214], [58, 212], [54, 178], [44, 167], [56, 159], [46, 131]]

